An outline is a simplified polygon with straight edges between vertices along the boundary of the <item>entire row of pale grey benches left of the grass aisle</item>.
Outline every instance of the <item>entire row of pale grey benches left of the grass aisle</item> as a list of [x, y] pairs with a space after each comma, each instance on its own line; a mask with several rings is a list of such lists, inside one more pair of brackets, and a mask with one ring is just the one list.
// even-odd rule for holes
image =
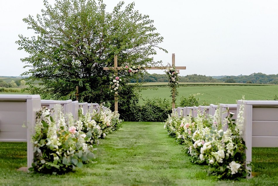
[[27, 142], [28, 168], [32, 166], [34, 157], [31, 139], [36, 122], [36, 112], [42, 106], [52, 109], [55, 104], [61, 104], [64, 113], [73, 113], [74, 119], [78, 117], [79, 106], [83, 107], [84, 114], [93, 109], [99, 109], [99, 104], [96, 103], [41, 100], [40, 95], [0, 94], [0, 141]]

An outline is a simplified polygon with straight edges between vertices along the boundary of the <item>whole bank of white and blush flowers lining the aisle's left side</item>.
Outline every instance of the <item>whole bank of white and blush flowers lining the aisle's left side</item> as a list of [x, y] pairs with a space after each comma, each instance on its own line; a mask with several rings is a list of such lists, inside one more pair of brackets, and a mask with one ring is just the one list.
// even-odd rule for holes
[[62, 106], [54, 109], [46, 107], [37, 112], [34, 144], [34, 163], [29, 170], [40, 173], [62, 174], [80, 168], [84, 163], [95, 158], [92, 145], [99, 143], [99, 138], [121, 127], [118, 112], [110, 109], [94, 110], [92, 114], [83, 114], [78, 110], [78, 120], [69, 114], [66, 119]]

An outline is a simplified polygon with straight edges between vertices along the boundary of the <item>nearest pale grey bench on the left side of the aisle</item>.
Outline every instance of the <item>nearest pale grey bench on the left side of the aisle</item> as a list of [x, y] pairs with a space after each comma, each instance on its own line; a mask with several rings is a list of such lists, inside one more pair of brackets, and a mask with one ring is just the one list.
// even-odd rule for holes
[[27, 142], [28, 168], [34, 159], [31, 139], [40, 101], [40, 95], [0, 94], [0, 141]]

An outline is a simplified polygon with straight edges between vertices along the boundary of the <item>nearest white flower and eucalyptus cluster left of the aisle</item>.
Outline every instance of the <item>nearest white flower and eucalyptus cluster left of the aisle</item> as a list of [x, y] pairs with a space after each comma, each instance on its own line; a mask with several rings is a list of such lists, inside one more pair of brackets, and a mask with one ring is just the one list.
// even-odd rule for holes
[[[34, 163], [29, 170], [40, 173], [62, 174], [82, 167], [83, 163], [95, 158], [92, 146], [85, 143], [86, 134], [68, 124], [57, 105], [53, 111], [43, 107], [37, 112], [34, 143]], [[54, 115], [52, 117], [51, 115]]]

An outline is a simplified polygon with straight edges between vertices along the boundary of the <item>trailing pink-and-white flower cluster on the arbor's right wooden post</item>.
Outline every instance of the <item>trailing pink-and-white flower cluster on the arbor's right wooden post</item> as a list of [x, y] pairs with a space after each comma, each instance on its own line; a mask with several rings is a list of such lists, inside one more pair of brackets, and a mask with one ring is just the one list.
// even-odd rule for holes
[[178, 96], [177, 91], [177, 84], [179, 84], [179, 70], [176, 70], [175, 65], [172, 67], [168, 67], [167, 70], [164, 71], [168, 77], [169, 77], [169, 86], [171, 87], [171, 93], [172, 93], [172, 101], [176, 101], [176, 96]]

